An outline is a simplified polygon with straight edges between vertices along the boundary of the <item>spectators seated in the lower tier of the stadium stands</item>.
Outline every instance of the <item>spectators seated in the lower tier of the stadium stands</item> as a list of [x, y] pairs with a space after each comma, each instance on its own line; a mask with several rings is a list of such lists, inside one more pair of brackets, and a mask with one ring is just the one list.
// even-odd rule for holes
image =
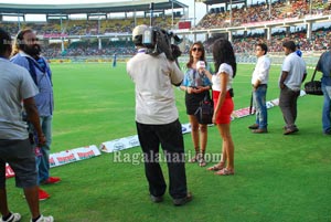
[[[207, 53], [211, 53], [213, 42], [218, 39], [218, 35], [212, 36], [204, 42]], [[290, 39], [300, 46], [305, 52], [325, 51], [331, 47], [331, 25], [329, 28], [320, 28], [312, 32], [312, 38], [307, 40], [306, 30], [297, 30], [293, 33], [286, 33], [278, 31], [273, 33], [271, 41], [268, 41], [264, 33], [249, 33], [233, 35], [233, 47], [236, 54], [254, 54], [255, 45], [264, 42], [268, 45], [268, 51], [273, 53], [282, 53], [282, 42]], [[183, 54], [188, 54], [191, 42], [183, 46]], [[131, 41], [103, 41], [103, 49], [98, 49], [96, 41], [90, 40], [73, 42], [67, 45], [64, 51], [61, 50], [61, 44], [51, 44], [44, 46], [43, 54], [49, 57], [67, 57], [67, 56], [111, 56], [132, 55], [136, 53], [134, 43]]]

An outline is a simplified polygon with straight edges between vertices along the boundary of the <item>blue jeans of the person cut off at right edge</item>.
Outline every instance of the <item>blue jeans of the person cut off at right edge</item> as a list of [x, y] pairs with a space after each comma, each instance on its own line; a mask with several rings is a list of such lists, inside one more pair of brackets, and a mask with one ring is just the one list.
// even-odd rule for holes
[[322, 84], [324, 95], [323, 112], [322, 112], [322, 126], [323, 131], [331, 133], [331, 86]]

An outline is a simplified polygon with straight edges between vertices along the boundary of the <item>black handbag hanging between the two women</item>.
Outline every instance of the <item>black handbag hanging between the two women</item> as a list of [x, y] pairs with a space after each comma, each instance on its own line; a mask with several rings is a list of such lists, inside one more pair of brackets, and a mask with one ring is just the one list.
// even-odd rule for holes
[[199, 124], [213, 124], [214, 102], [211, 98], [210, 91], [206, 92], [204, 98], [200, 102], [200, 106], [194, 113]]

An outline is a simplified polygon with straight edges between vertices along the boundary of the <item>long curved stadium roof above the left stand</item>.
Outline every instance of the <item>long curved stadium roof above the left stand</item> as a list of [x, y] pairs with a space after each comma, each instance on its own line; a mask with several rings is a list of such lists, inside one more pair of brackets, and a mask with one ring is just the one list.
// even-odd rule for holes
[[[118, 1], [109, 3], [82, 4], [14, 4], [0, 3], [0, 13], [20, 14], [77, 14], [77, 13], [115, 13], [150, 10], [150, 0]], [[182, 9], [186, 4], [177, 0], [153, 0], [154, 10]]]

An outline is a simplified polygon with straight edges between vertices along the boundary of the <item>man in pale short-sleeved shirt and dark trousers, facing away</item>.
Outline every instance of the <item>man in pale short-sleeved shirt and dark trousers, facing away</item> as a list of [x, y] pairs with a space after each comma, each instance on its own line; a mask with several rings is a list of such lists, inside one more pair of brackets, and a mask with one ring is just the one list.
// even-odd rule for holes
[[307, 76], [306, 64], [302, 57], [296, 53], [293, 41], [282, 43], [285, 60], [281, 66], [279, 78], [279, 107], [282, 113], [286, 126], [284, 135], [290, 135], [299, 131], [296, 119], [298, 115], [297, 102], [300, 95], [300, 87]]

